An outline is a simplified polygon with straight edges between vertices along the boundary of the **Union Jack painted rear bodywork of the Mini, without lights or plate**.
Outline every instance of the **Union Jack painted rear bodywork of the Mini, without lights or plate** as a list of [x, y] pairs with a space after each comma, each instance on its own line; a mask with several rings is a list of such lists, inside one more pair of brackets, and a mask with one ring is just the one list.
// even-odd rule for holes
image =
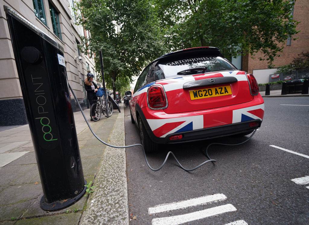
[[[233, 82], [215, 82], [224, 77]], [[196, 81], [200, 82], [198, 87], [185, 87], [185, 84], [195, 84]], [[210, 86], [207, 81], [214, 83]], [[232, 94], [191, 100], [189, 91], [205, 87], [203, 82], [207, 87], [229, 85]], [[236, 68], [161, 79], [133, 93], [131, 116], [136, 124], [140, 117], [155, 143], [187, 142], [253, 131], [263, 120], [264, 100], [258, 90], [252, 94], [252, 85], [257, 86], [253, 75]], [[166, 98], [163, 108], [153, 109], [150, 106], [148, 94], [151, 87], [163, 90]]]

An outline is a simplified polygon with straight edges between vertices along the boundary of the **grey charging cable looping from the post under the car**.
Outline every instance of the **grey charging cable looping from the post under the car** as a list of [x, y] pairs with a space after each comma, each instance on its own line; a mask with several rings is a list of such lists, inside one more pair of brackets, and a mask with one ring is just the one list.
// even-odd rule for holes
[[89, 129], [90, 129], [90, 131], [91, 131], [91, 133], [93, 134], [93, 136], [95, 136], [95, 138], [97, 138], [97, 139], [98, 139], [100, 142], [102, 142], [104, 145], [110, 146], [110, 147], [112, 147], [112, 148], [131, 148], [131, 147], [135, 147], [135, 146], [141, 146], [142, 149], [143, 149], [143, 152], [144, 152], [144, 157], [145, 157], [147, 166], [148, 166], [151, 170], [153, 170], [153, 171], [158, 171], [158, 170], [162, 169], [162, 167], [165, 165], [165, 163], [166, 163], [166, 161], [167, 161], [169, 155], [172, 155], [172, 156], [174, 157], [174, 159], [176, 160], [176, 162], [178, 163], [179, 167], [182, 168], [184, 171], [187, 171], [187, 172], [196, 170], [197, 168], [200, 168], [200, 167], [201, 167], [202, 165], [204, 165], [205, 163], [209, 163], [209, 162], [215, 163], [215, 162], [217, 162], [217, 161], [216, 161], [215, 159], [210, 159], [210, 157], [209, 157], [209, 155], [208, 155], [208, 148], [209, 148], [210, 146], [212, 146], [212, 145], [225, 145], [225, 146], [241, 145], [241, 144], [243, 144], [243, 143], [249, 141], [249, 140], [253, 137], [253, 135], [255, 134], [255, 132], [256, 132], [256, 130], [254, 130], [254, 132], [250, 135], [250, 137], [249, 137], [248, 139], [246, 139], [245, 141], [243, 141], [243, 142], [241, 142], [241, 143], [238, 143], [238, 144], [223, 144], [223, 143], [211, 143], [211, 144], [209, 144], [209, 145], [206, 147], [205, 151], [203, 151], [203, 153], [206, 155], [206, 157], [208, 158], [208, 160], [205, 161], [205, 162], [203, 162], [203, 163], [201, 163], [201, 164], [199, 164], [198, 166], [196, 166], [196, 167], [194, 167], [194, 168], [191, 168], [191, 169], [184, 168], [184, 167], [181, 165], [181, 163], [178, 161], [178, 159], [176, 158], [176, 156], [174, 155], [174, 153], [172, 153], [171, 151], [169, 151], [169, 152], [167, 153], [167, 155], [166, 155], [166, 157], [165, 157], [165, 160], [164, 160], [164, 162], [162, 163], [162, 165], [161, 165], [159, 168], [154, 169], [154, 168], [152, 168], [152, 167], [150, 166], [150, 164], [149, 164], [149, 162], [148, 162], [148, 160], [147, 160], [146, 153], [145, 153], [145, 149], [144, 149], [144, 146], [143, 146], [142, 144], [133, 144], [133, 145], [127, 145], [127, 146], [114, 146], [114, 145], [108, 144], [107, 142], [104, 142], [103, 140], [101, 140], [101, 139], [95, 134], [95, 132], [93, 132], [93, 130], [91, 129], [91, 126], [90, 126], [89, 122], [87, 121], [87, 118], [86, 118], [85, 114], [83, 113], [83, 109], [82, 109], [82, 107], [80, 106], [80, 104], [79, 104], [79, 102], [78, 102], [78, 100], [77, 100], [77, 98], [76, 98], [76, 96], [75, 96], [75, 94], [74, 94], [74, 91], [72, 90], [70, 84], [69, 84], [69, 88], [70, 88], [70, 90], [71, 90], [71, 92], [72, 92], [72, 94], [73, 94], [73, 96], [74, 96], [74, 99], [76, 100], [76, 102], [77, 102], [77, 104], [78, 104], [78, 107], [79, 107], [81, 113], [83, 114], [83, 117], [84, 117], [84, 119], [85, 119], [85, 121], [86, 121], [86, 123], [87, 123], [87, 125], [88, 125], [88, 127], [89, 127]]

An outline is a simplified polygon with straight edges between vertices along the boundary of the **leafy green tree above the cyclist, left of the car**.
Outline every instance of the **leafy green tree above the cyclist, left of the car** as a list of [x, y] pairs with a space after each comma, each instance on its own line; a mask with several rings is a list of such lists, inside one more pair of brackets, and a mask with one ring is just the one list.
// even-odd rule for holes
[[81, 0], [78, 9], [82, 13], [78, 24], [90, 32], [81, 47], [85, 53], [97, 53], [97, 71], [102, 49], [105, 81], [114, 96], [115, 84], [132, 81], [147, 62], [165, 52], [155, 7], [148, 0]]

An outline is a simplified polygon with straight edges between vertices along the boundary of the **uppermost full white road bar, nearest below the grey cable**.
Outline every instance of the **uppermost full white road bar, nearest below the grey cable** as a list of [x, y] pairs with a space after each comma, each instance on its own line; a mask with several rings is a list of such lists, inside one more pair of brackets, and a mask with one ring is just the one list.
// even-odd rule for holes
[[148, 209], [148, 213], [154, 214], [154, 213], [160, 213], [160, 212], [169, 211], [169, 210], [182, 209], [182, 208], [187, 208], [189, 206], [202, 205], [202, 204], [206, 204], [207, 202], [214, 202], [214, 201], [224, 200], [224, 199], [226, 199], [226, 196], [224, 194], [214, 194], [214, 195], [202, 196], [198, 198], [189, 199], [186, 201], [180, 201], [180, 202], [163, 204], [163, 205], [151, 207]]

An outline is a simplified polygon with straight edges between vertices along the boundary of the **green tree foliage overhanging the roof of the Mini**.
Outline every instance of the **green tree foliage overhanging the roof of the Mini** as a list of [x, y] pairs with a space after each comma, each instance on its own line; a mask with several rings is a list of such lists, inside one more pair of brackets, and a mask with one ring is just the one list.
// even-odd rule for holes
[[261, 51], [271, 64], [297, 33], [290, 0], [157, 0], [169, 48], [218, 47], [226, 57]]

